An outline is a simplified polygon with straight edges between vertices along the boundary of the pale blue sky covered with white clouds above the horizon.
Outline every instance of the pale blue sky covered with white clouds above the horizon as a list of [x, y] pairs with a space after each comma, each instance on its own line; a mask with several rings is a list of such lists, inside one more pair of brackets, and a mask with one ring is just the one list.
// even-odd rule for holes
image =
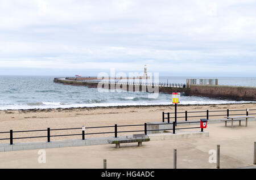
[[1, 0], [0, 75], [256, 76], [255, 0]]

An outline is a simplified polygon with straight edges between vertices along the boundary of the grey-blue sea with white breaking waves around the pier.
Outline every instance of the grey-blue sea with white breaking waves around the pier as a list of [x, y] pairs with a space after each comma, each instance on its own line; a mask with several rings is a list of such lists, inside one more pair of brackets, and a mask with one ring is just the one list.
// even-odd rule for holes
[[[159, 93], [155, 98], [146, 92], [101, 92], [97, 88], [53, 83], [56, 76], [0, 76], [0, 110], [79, 108], [97, 106], [169, 105], [171, 95]], [[162, 83], [186, 83], [186, 79], [211, 77], [159, 77]], [[220, 85], [256, 87], [256, 77], [218, 77]], [[219, 98], [181, 95], [180, 104], [238, 104]]]

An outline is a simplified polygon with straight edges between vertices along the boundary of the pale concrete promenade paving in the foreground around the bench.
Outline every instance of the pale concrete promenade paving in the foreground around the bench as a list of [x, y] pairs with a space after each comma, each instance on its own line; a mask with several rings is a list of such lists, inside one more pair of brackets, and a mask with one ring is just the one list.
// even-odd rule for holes
[[242, 168], [253, 165], [253, 144], [256, 141], [256, 122], [232, 129], [224, 123], [212, 123], [207, 138], [156, 140], [113, 144], [44, 149], [46, 163], [39, 163], [38, 149], [0, 152], [0, 168], [173, 168], [173, 149], [177, 149], [177, 168], [216, 168], [209, 163], [209, 151], [220, 144], [220, 168]]

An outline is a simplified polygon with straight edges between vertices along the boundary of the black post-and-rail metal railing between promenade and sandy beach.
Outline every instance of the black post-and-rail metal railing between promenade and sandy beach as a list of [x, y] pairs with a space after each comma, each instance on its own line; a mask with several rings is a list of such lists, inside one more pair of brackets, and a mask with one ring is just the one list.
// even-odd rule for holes
[[[216, 113], [216, 112], [221, 112], [222, 114], [210, 114], [210, 113]], [[232, 112], [242, 112], [239, 114], [233, 114]], [[250, 113], [249, 113], [250, 112]], [[205, 115], [188, 115], [191, 113], [205, 113]], [[224, 114], [225, 113], [225, 114]], [[170, 115], [174, 114], [174, 117], [171, 117]], [[183, 116], [177, 116], [177, 114], [184, 114]], [[93, 135], [93, 134], [114, 134], [114, 137], [117, 138], [118, 133], [126, 133], [126, 132], [143, 132], [145, 135], [147, 135], [148, 131], [165, 131], [165, 130], [172, 130], [172, 133], [175, 134], [175, 130], [184, 130], [184, 129], [191, 129], [191, 128], [200, 128], [200, 127], [181, 127], [177, 128], [177, 125], [182, 125], [186, 123], [200, 123], [200, 121], [195, 121], [195, 122], [186, 122], [188, 121], [188, 118], [206, 118], [209, 119], [209, 117], [224, 117], [224, 116], [229, 116], [229, 115], [253, 115], [256, 114], [256, 109], [241, 109], [241, 110], [205, 110], [205, 111], [194, 111], [194, 112], [176, 112], [176, 113], [162, 113], [162, 123], [158, 124], [140, 124], [140, 125], [117, 125], [115, 124], [114, 126], [98, 126], [98, 127], [85, 127], [85, 130], [82, 130], [82, 127], [76, 127], [76, 128], [47, 128], [44, 130], [25, 130], [25, 131], [6, 131], [6, 132], [0, 132], [1, 134], [9, 134], [9, 138], [2, 138], [0, 140], [10, 140], [10, 144], [13, 144], [13, 141], [15, 139], [33, 139], [33, 138], [47, 138], [47, 142], [51, 142], [51, 137], [60, 137], [60, 136], [81, 136], [82, 140], [85, 140], [86, 135]], [[167, 115], [167, 117], [166, 117]], [[177, 118], [183, 118], [184, 122], [177, 122]], [[165, 122], [165, 119], [167, 119], [167, 122]], [[170, 121], [173, 122], [170, 122]], [[147, 126], [152, 126], [152, 125], [172, 125], [172, 128], [167, 128], [167, 129], [154, 129], [154, 130], [147, 130]], [[118, 131], [118, 127], [135, 127], [135, 126], [142, 126], [141, 130], [133, 130], [133, 131]], [[93, 129], [93, 128], [112, 128], [110, 131], [106, 132], [92, 132], [92, 133], [87, 133], [86, 129]], [[68, 130], [81, 130], [80, 133], [77, 134], [61, 134], [61, 135], [51, 135], [52, 131], [65, 131], [67, 132]], [[46, 131], [47, 135], [43, 136], [26, 136], [26, 137], [15, 137], [15, 134], [22, 133], [22, 132], [41, 132], [41, 131]], [[203, 131], [203, 128], [201, 128], [201, 131]]]

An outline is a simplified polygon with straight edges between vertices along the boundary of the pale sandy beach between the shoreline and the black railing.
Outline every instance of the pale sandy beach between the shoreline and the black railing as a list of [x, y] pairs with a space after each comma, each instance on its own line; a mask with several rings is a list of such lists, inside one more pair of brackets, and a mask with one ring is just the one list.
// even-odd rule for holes
[[[256, 104], [223, 104], [223, 105], [178, 105], [177, 112], [203, 111], [205, 113], [193, 113], [193, 115], [206, 115], [206, 110], [235, 110], [235, 109], [256, 109]], [[53, 128], [74, 128], [94, 126], [117, 125], [138, 125], [145, 122], [162, 122], [162, 112], [174, 112], [174, 105], [162, 106], [117, 106], [109, 108], [69, 108], [69, 109], [31, 109], [31, 110], [2, 110], [0, 111], [0, 131], [20, 130], [45, 130]], [[255, 113], [255, 112], [254, 112]], [[211, 113], [214, 114], [214, 113]], [[220, 113], [215, 113], [220, 114]], [[220, 119], [223, 117], [210, 117], [209, 119]], [[231, 113], [230, 113], [231, 114]], [[188, 114], [189, 115], [189, 114]], [[173, 116], [173, 115], [172, 115]], [[192, 118], [200, 119], [200, 118]], [[189, 119], [191, 120], [191, 119]], [[172, 120], [173, 121], [173, 120]], [[178, 118], [184, 121], [184, 118]], [[143, 127], [120, 127], [122, 130], [142, 130]], [[88, 129], [90, 132], [108, 132], [113, 128]], [[46, 135], [42, 132], [26, 132], [14, 134], [14, 137]], [[52, 131], [51, 135], [77, 134], [81, 130]], [[126, 133], [127, 134], [127, 133]], [[126, 135], [118, 134], [118, 135]], [[9, 134], [0, 134], [1, 138], [9, 138]], [[99, 136], [113, 136], [113, 134], [88, 135], [86, 138]], [[79, 139], [80, 136], [53, 137], [51, 140]], [[45, 138], [15, 139], [15, 142], [46, 141]], [[1, 140], [1, 143], [9, 143], [8, 140]]]

